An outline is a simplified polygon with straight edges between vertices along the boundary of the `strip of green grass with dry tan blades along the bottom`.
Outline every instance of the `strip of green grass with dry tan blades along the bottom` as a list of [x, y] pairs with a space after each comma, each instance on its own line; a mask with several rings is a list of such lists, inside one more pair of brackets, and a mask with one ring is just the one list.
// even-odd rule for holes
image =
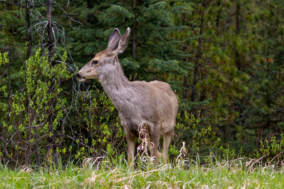
[[212, 160], [206, 165], [182, 159], [172, 165], [138, 160], [133, 168], [117, 155], [85, 159], [80, 167], [70, 163], [56, 169], [12, 170], [1, 165], [0, 188], [284, 188], [283, 168], [248, 158]]

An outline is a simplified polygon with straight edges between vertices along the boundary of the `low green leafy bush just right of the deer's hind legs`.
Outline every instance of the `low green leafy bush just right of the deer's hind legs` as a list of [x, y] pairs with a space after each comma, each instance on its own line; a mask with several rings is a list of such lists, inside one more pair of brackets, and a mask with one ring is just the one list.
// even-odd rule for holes
[[[199, 154], [201, 161], [206, 161], [205, 154], [210, 149], [217, 149], [220, 147], [220, 138], [216, 135], [215, 129], [210, 125], [207, 126], [201, 118], [201, 112], [194, 115], [187, 112], [180, 104], [182, 113], [178, 113], [177, 124], [175, 127], [176, 137], [174, 138], [174, 145], [170, 147], [170, 155], [177, 157], [180, 154], [180, 149], [183, 147], [187, 152], [184, 158], [195, 158]], [[183, 144], [182, 142], [185, 142]]]

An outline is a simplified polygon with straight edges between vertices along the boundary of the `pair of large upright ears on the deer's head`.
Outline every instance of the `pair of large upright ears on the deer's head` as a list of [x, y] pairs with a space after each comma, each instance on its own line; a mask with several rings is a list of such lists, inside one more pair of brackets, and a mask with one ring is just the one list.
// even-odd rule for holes
[[129, 34], [130, 34], [130, 29], [128, 27], [126, 29], [125, 34], [123, 34], [119, 40], [114, 41], [112, 45], [108, 46], [108, 50], [110, 50], [112, 53], [115, 54], [122, 53], [125, 50], [126, 45], [128, 43]]

